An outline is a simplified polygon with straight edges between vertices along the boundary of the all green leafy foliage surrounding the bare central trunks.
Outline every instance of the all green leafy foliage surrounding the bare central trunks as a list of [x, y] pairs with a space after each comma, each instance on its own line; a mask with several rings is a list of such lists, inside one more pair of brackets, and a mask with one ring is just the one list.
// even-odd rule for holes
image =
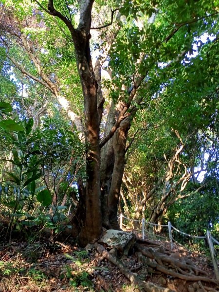
[[[12, 112], [10, 105], [0, 103], [0, 144], [4, 153], [1, 166], [7, 168], [1, 183], [4, 212], [13, 218], [10, 228], [12, 222], [18, 223], [22, 216], [26, 216], [22, 224], [47, 222], [47, 226], [55, 228], [72, 202], [68, 196], [71, 187], [79, 177], [88, 183], [93, 175], [88, 175], [88, 167], [93, 169], [96, 163], [96, 160], [91, 162], [94, 156], [88, 159], [95, 147], [90, 143], [82, 145], [58, 100], [53, 100], [53, 96], [64, 96], [68, 110], [74, 109], [78, 120], [82, 124], [85, 121], [86, 125], [90, 113], [86, 105], [91, 99], [86, 99], [86, 90], [82, 92], [79, 86], [85, 84], [85, 72], [81, 73], [80, 80], [77, 69], [80, 72], [81, 64], [76, 59], [80, 54], [74, 51], [74, 31], [70, 34], [61, 19], [46, 13], [47, 8], [43, 10], [47, 1], [39, 1], [40, 5], [27, 0], [3, 3], [13, 16], [13, 25], [8, 25], [9, 21], [1, 24], [0, 94], [4, 100], [9, 95], [15, 98], [14, 116], [8, 116]], [[79, 6], [76, 1], [55, 3], [55, 9], [75, 28]], [[106, 103], [97, 133], [100, 131], [102, 138], [102, 133], [109, 131], [121, 113], [118, 110], [121, 105], [127, 109], [121, 121], [129, 119], [130, 122], [128, 143], [127, 146], [124, 143], [126, 149], [123, 149], [127, 164], [122, 208], [133, 218], [145, 216], [159, 222], [171, 219], [187, 233], [199, 234], [211, 229], [217, 236], [218, 1], [124, 0], [121, 3], [110, 0], [106, 6], [104, 1], [98, 0], [93, 7], [93, 15], [98, 19], [92, 18], [94, 27], [106, 25], [110, 9], [119, 11], [113, 18], [112, 28], [105, 26], [99, 34], [91, 30], [94, 36], [91, 52], [94, 59], [96, 55], [100, 55], [101, 61], [106, 57], [104, 69], [110, 72], [108, 80], [100, 81]], [[101, 14], [105, 18], [103, 23], [98, 17]], [[34, 57], [20, 36], [28, 40]], [[20, 59], [22, 62], [16, 64]], [[59, 95], [54, 93], [54, 88]], [[35, 102], [32, 96], [37, 96]], [[44, 111], [38, 115], [37, 124], [36, 112], [40, 107]], [[109, 108], [114, 110], [113, 114]], [[109, 122], [110, 114], [113, 118]], [[84, 133], [86, 139], [90, 133], [92, 130], [88, 127]], [[10, 151], [12, 158], [8, 159]], [[113, 161], [117, 154], [113, 152], [110, 159]], [[104, 150], [101, 155], [103, 158]], [[206, 172], [203, 182], [198, 180], [200, 169]], [[112, 178], [113, 171], [107, 176]], [[101, 183], [110, 185], [111, 180]], [[97, 195], [96, 191], [91, 193], [89, 200]], [[60, 206], [66, 196], [66, 206]], [[79, 197], [76, 190], [76, 201]], [[90, 206], [89, 200], [86, 202]], [[32, 218], [30, 211], [37, 205], [39, 211]], [[162, 207], [158, 210], [159, 205]], [[208, 212], [199, 220], [203, 210]], [[153, 212], [157, 217], [153, 217]]]

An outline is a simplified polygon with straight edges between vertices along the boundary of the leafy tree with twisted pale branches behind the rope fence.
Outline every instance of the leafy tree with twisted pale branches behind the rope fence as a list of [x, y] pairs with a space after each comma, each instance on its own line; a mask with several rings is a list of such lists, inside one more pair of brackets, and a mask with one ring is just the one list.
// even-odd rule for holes
[[[212, 51], [212, 57], [208, 55], [205, 60], [204, 55], [209, 50], [214, 53]], [[150, 111], [142, 110], [142, 115], [135, 118], [131, 130], [135, 140], [128, 139], [128, 166], [123, 180], [125, 200], [122, 202], [122, 205], [129, 205], [131, 201], [135, 219], [145, 210], [146, 219], [153, 223], [158, 218], [166, 220], [162, 217], [171, 204], [189, 201], [189, 196], [194, 197], [203, 187], [208, 188], [205, 183], [197, 183], [197, 177], [201, 171], [210, 173], [209, 163], [204, 159], [206, 155], [212, 163], [217, 160], [217, 154], [213, 154], [218, 151], [218, 86], [215, 77], [219, 67], [213, 57], [217, 58], [217, 50], [211, 45], [203, 48], [193, 64], [182, 67], [182, 73], [174, 77], [175, 82], [169, 80], [159, 100], [149, 104]], [[204, 68], [205, 73], [208, 72], [206, 76], [212, 78], [205, 75], [194, 78], [197, 64]], [[177, 135], [179, 139], [174, 137], [173, 129], [180, 133]], [[177, 152], [178, 157], [175, 156]], [[171, 175], [167, 176], [170, 168]], [[189, 177], [196, 182], [197, 189], [187, 190]]]

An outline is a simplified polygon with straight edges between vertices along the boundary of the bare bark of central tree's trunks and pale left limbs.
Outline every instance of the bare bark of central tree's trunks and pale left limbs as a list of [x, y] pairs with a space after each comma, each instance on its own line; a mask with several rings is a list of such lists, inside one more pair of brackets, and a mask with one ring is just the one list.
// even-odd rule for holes
[[[13, 22], [14, 27], [13, 25], [5, 26], [1, 23], [1, 26], [7, 33], [17, 38], [18, 44], [25, 50], [32, 64], [36, 67], [36, 74], [32, 74], [26, 68], [23, 68], [22, 64], [12, 56], [8, 55], [8, 58], [10, 58], [21, 73], [28, 75], [44, 86], [46, 90], [52, 92], [76, 126], [79, 138], [86, 145], [86, 185], [83, 190], [83, 196], [80, 196], [81, 203], [78, 203], [74, 214], [75, 220], [79, 225], [80, 242], [85, 245], [87, 242], [91, 242], [100, 236], [102, 225], [107, 228], [118, 228], [117, 207], [125, 166], [126, 140], [131, 115], [135, 111], [134, 105], [141, 101], [137, 96], [137, 89], [145, 76], [136, 75], [135, 86], [129, 92], [126, 102], [123, 102], [122, 98], [118, 100], [116, 105], [111, 102], [106, 131], [100, 141], [100, 124], [102, 123], [102, 126], [105, 125], [104, 96], [101, 91], [101, 68], [119, 31], [119, 25], [116, 29], [112, 28], [110, 32], [111, 37], [106, 37], [103, 54], [101, 54], [100, 58], [97, 58], [93, 69], [90, 52], [93, 0], [78, 1], [80, 18], [77, 28], [74, 27], [71, 17], [68, 18], [56, 9], [58, 5], [54, 6], [54, 0], [48, 0], [47, 7], [38, 1], [36, 2], [48, 14], [60, 18], [71, 33], [84, 97], [85, 127], [81, 122], [82, 117], [79, 117], [71, 110], [70, 103], [61, 94], [58, 85], [46, 73], [39, 59], [40, 57], [36, 54], [37, 44], [30, 42], [25, 33], [20, 30], [22, 23], [20, 25], [18, 21], [15, 21]], [[116, 21], [119, 21], [119, 18]], [[127, 112], [127, 110], [129, 111]], [[37, 125], [37, 119], [35, 126]], [[57, 196], [54, 198], [54, 203], [56, 200]], [[65, 203], [65, 200], [63, 203]]]

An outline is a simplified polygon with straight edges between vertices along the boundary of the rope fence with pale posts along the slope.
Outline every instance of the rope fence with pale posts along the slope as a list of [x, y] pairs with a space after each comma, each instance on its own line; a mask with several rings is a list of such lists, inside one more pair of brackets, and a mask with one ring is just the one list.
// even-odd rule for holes
[[169, 235], [169, 242], [170, 242], [170, 248], [173, 249], [173, 236], [172, 236], [172, 229], [187, 236], [187, 237], [192, 237], [192, 238], [198, 238], [198, 239], [206, 239], [208, 246], [209, 246], [209, 250], [210, 250], [210, 254], [211, 254], [211, 259], [212, 259], [212, 263], [214, 266], [214, 271], [215, 271], [215, 275], [216, 275], [216, 279], [219, 281], [219, 267], [217, 264], [217, 260], [216, 260], [216, 253], [214, 250], [214, 244], [213, 241], [219, 245], [219, 241], [217, 239], [215, 239], [214, 237], [211, 236], [211, 233], [209, 231], [206, 232], [206, 236], [195, 236], [195, 235], [191, 235], [191, 234], [187, 234], [179, 229], [177, 229], [176, 227], [174, 227], [170, 221], [168, 221], [168, 225], [160, 225], [160, 224], [155, 224], [155, 223], [151, 223], [146, 221], [144, 218], [142, 218], [142, 220], [134, 220], [134, 219], [129, 219], [127, 217], [125, 217], [122, 213], [120, 214], [120, 216], [118, 217], [119, 221], [120, 221], [120, 228], [122, 229], [123, 227], [123, 219], [127, 219], [129, 221], [132, 222], [138, 222], [139, 224], [142, 224], [142, 239], [145, 239], [145, 224], [148, 225], [153, 225], [153, 226], [161, 226], [161, 227], [168, 227], [168, 235]]

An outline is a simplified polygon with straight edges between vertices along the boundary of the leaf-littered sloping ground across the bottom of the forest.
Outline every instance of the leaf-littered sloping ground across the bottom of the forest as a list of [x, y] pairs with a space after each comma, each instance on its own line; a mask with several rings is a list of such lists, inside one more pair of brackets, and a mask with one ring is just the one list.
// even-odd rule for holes
[[[145, 241], [139, 242], [141, 245], [139, 248], [146, 248], [149, 252], [159, 250], [157, 255], [160, 255], [162, 262], [165, 259], [169, 261], [171, 258], [171, 261], [174, 259], [174, 263], [189, 262], [192, 267], [197, 267], [199, 273], [203, 271], [200, 279], [199, 276], [196, 276], [197, 274], [191, 274], [197, 279], [190, 281], [190, 278], [180, 279], [174, 274], [171, 275], [172, 272], [166, 274], [165, 269], [164, 273], [162, 268], [162, 271], [159, 271], [159, 269], [142, 263], [137, 257], [137, 254], [140, 253], [127, 257], [120, 256], [120, 260], [128, 271], [137, 275], [139, 279], [176, 292], [219, 291], [216, 280], [213, 280], [213, 266], [208, 257], [177, 245], [174, 245], [174, 250], [170, 251], [167, 241], [154, 241], [146, 238]], [[162, 255], [165, 254], [165, 258], [161, 256], [161, 252]], [[159, 263], [157, 257], [156, 260]], [[155, 259], [151, 261], [151, 263], [153, 262]], [[176, 267], [175, 271], [182, 272], [183, 268], [181, 268]], [[170, 271], [174, 271], [174, 269]], [[187, 272], [182, 273], [185, 277], [190, 275]], [[86, 249], [81, 249], [70, 239], [56, 240], [51, 243], [45, 237], [31, 242], [23, 241], [18, 237], [13, 238], [10, 243], [1, 240], [0, 292], [61, 291], [132, 292], [140, 290], [131, 285], [119, 268], [100, 255], [91, 245]]]

